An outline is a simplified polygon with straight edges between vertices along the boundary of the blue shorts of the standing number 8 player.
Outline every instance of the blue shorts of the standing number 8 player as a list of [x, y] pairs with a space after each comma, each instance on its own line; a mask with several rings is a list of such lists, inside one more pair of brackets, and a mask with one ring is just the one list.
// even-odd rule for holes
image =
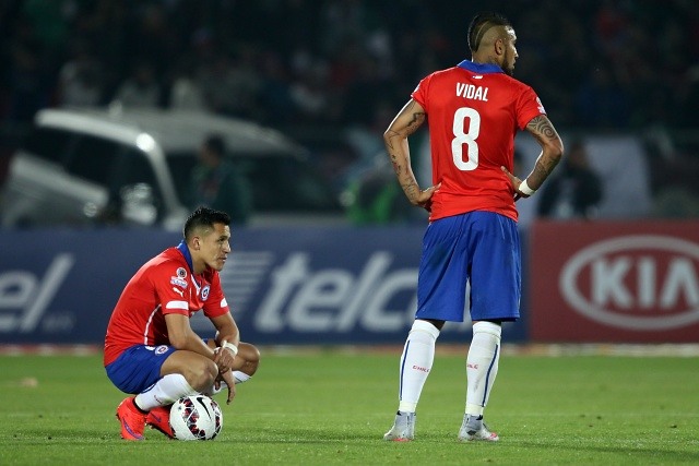
[[433, 222], [423, 238], [417, 319], [463, 322], [466, 284], [471, 320], [520, 316], [521, 266], [517, 223], [494, 212]]

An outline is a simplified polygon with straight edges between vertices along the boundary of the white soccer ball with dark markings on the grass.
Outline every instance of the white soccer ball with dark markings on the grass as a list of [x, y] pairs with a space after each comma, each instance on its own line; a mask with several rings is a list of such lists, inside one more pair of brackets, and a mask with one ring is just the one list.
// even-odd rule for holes
[[223, 414], [206, 395], [179, 398], [170, 408], [170, 428], [177, 440], [213, 440], [223, 427]]

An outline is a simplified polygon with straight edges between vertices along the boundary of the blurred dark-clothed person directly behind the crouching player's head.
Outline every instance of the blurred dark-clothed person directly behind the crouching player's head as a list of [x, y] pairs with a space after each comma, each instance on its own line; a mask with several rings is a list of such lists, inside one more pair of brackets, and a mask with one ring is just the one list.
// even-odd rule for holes
[[199, 164], [191, 176], [189, 205], [223, 211], [234, 223], [244, 225], [252, 211], [251, 190], [246, 179], [226, 157], [222, 136], [212, 134], [202, 142]]

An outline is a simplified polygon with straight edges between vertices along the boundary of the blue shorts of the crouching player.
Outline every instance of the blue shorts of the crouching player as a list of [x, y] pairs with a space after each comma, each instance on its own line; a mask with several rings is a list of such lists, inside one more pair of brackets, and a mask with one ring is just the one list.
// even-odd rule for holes
[[145, 392], [161, 380], [161, 368], [175, 351], [174, 347], [167, 345], [132, 346], [105, 368], [107, 377], [123, 393]]

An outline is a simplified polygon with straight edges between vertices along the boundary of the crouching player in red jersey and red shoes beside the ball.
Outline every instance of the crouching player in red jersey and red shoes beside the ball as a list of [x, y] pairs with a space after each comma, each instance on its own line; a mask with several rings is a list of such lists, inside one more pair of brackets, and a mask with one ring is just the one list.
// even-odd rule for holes
[[[143, 440], [145, 425], [173, 437], [169, 406], [182, 396], [214, 394], [257, 371], [260, 353], [240, 343], [218, 272], [230, 253], [228, 214], [200, 207], [185, 238], [146, 262], [117, 302], [105, 338], [104, 365], [111, 382], [134, 394], [121, 402], [121, 438]], [[189, 319], [202, 310], [216, 328], [208, 342]]]

